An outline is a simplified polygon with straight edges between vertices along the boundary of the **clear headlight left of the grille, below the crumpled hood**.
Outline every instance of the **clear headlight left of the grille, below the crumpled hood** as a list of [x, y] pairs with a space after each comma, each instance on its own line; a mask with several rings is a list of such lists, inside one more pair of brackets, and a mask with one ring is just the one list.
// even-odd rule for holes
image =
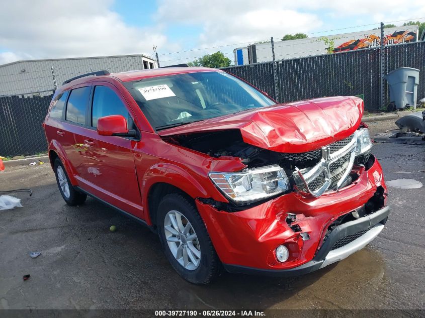
[[289, 190], [289, 180], [279, 165], [242, 172], [210, 172], [209, 177], [236, 202], [256, 201]]

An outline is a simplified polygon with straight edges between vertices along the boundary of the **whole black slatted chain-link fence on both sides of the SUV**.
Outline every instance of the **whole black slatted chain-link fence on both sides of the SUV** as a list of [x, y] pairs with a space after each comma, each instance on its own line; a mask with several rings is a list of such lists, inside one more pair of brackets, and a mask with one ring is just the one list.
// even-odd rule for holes
[[[425, 42], [386, 46], [383, 50], [383, 61], [380, 59], [380, 48], [370, 48], [279, 60], [275, 65], [274, 62], [264, 62], [232, 66], [224, 70], [246, 80], [279, 102], [335, 95], [364, 95], [365, 108], [376, 110], [381, 107], [381, 63], [384, 63], [384, 74], [407, 66], [420, 70], [417, 97], [425, 97]], [[91, 67], [94, 67], [93, 70], [98, 68]], [[140, 68], [138, 65], [131, 67]], [[122, 71], [119, 65], [114, 70]], [[63, 70], [63, 74], [58, 75], [68, 78], [71, 73]], [[37, 93], [0, 96], [0, 155], [29, 155], [46, 151], [41, 124], [53, 93], [54, 88], [40, 89]], [[384, 107], [388, 103], [389, 90], [385, 82]]]

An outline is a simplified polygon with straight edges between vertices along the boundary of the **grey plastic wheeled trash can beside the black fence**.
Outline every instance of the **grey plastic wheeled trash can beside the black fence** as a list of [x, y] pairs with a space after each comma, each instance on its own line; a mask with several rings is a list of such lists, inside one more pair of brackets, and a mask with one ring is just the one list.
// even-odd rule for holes
[[388, 110], [406, 108], [406, 105], [415, 107], [417, 99], [417, 85], [419, 84], [419, 70], [411, 67], [400, 67], [385, 77], [390, 88], [390, 103]]

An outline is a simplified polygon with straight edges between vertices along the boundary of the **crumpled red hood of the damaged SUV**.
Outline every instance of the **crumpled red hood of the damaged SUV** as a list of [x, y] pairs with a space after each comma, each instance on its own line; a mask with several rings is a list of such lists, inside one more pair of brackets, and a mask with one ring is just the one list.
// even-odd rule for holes
[[173, 136], [239, 129], [247, 144], [277, 152], [306, 152], [353, 134], [363, 115], [358, 97], [324, 97], [278, 104], [158, 132]]

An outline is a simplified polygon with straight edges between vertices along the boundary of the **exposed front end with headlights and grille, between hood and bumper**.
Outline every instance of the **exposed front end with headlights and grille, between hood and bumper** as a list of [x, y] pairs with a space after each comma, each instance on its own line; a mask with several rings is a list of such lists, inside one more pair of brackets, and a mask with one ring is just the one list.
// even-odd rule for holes
[[313, 197], [338, 191], [359, 178], [372, 147], [365, 126], [347, 138], [303, 153], [277, 152], [247, 144], [235, 129], [164, 139], [211, 157], [241, 159], [246, 165], [242, 171], [209, 172], [210, 179], [229, 199], [229, 203], [215, 205], [229, 211], [248, 208], [290, 191]]

